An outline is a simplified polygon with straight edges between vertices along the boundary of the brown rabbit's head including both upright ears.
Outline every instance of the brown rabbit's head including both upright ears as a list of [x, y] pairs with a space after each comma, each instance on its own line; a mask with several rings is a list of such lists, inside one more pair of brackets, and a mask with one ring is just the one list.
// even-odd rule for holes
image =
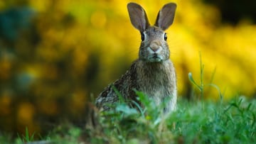
[[166, 42], [167, 35], [164, 31], [174, 22], [176, 4], [169, 3], [164, 5], [158, 13], [154, 26], [150, 26], [146, 12], [139, 4], [129, 3], [127, 9], [132, 25], [142, 35], [139, 60], [144, 60], [145, 62], [169, 60], [170, 51]]

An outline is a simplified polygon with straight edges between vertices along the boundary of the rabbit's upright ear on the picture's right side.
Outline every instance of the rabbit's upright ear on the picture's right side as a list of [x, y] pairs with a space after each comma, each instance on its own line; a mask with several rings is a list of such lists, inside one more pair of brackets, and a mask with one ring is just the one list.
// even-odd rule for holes
[[164, 31], [169, 28], [169, 26], [171, 26], [171, 24], [174, 22], [176, 7], [177, 6], [174, 3], [164, 5], [157, 15], [154, 26], [158, 26]]

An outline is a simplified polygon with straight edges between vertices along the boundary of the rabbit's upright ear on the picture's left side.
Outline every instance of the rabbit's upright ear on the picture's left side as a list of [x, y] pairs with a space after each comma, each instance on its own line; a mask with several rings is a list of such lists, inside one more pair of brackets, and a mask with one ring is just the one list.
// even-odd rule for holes
[[127, 4], [127, 9], [132, 25], [143, 33], [149, 26], [149, 20], [146, 16], [146, 12], [142, 6], [139, 6], [139, 4], [136, 3]]

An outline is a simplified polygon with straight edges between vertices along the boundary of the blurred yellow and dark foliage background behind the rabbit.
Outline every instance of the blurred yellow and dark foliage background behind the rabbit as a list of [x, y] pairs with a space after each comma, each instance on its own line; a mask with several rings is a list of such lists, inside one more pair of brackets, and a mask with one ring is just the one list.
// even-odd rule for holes
[[[149, 21], [169, 1], [138, 1]], [[139, 32], [127, 13], [129, 1], [0, 1], [0, 129], [46, 131], [65, 118], [82, 121], [90, 94], [119, 78], [137, 58]], [[205, 79], [229, 99], [256, 93], [256, 26], [241, 19], [221, 23], [217, 7], [200, 0], [178, 4], [169, 28], [171, 60], [179, 96], [190, 97], [188, 72]], [[206, 98], [217, 99], [215, 89]], [[1, 131], [0, 131], [1, 134]]]

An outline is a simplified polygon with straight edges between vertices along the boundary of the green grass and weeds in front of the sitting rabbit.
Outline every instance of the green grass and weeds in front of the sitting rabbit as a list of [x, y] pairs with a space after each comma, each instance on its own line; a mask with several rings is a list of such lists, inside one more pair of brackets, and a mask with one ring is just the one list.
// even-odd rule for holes
[[[138, 111], [125, 103], [100, 113], [97, 126], [66, 126], [52, 131], [47, 143], [255, 143], [256, 101], [237, 97], [220, 105], [211, 101], [178, 99], [178, 109], [164, 116], [161, 106], [137, 92], [144, 104]], [[68, 127], [68, 128], [67, 128]], [[33, 141], [33, 135], [21, 135], [15, 143]], [[0, 136], [0, 143], [9, 139]]]

